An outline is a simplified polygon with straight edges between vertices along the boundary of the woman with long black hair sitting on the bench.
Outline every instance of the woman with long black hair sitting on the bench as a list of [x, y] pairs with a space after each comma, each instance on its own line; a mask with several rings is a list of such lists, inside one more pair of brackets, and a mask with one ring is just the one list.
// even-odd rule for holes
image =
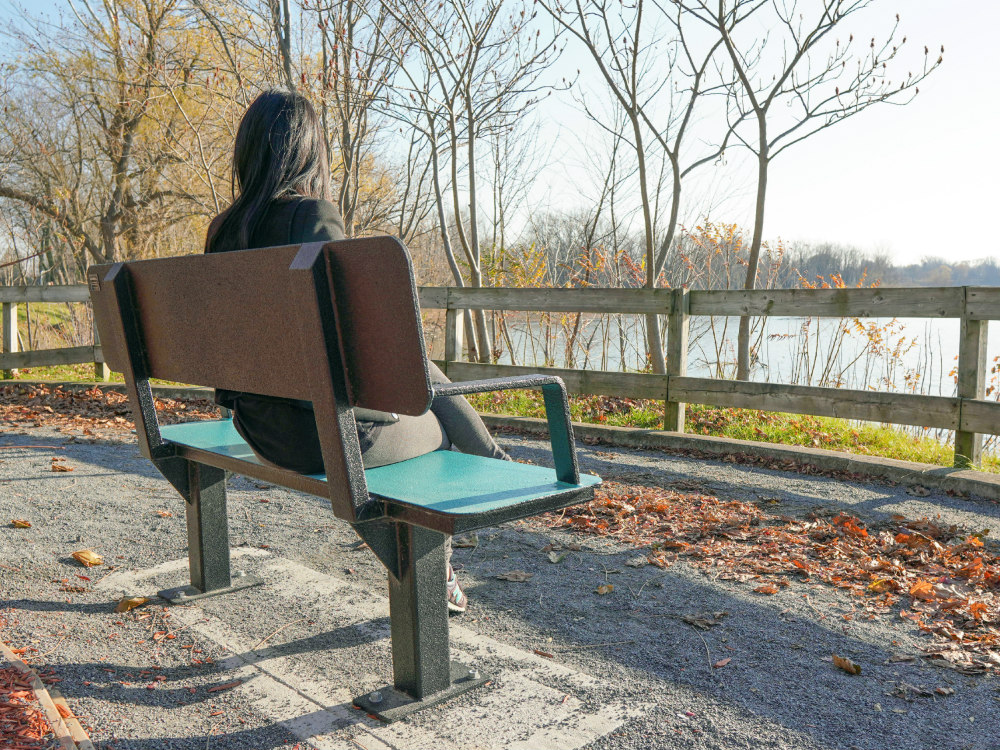
[[[209, 225], [205, 252], [345, 238], [340, 212], [330, 202], [326, 141], [305, 97], [271, 90], [254, 100], [236, 133], [232, 175], [233, 203]], [[428, 365], [432, 382], [450, 382], [433, 362]], [[323, 473], [308, 401], [219, 390], [216, 402], [232, 410], [233, 425], [261, 461], [303, 474]], [[419, 417], [358, 409], [355, 418], [366, 468], [452, 446], [510, 460], [461, 396], [435, 399]], [[447, 590], [449, 610], [464, 612], [466, 598], [450, 563]]]

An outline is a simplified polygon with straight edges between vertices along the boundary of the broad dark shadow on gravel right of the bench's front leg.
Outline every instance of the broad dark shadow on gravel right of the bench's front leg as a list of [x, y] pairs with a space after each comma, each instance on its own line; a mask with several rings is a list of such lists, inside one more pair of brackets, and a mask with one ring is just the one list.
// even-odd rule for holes
[[[664, 700], [656, 710], [668, 721], [688, 708], [677, 702], [678, 693], [691, 694], [678, 690], [687, 687], [832, 748], [996, 747], [990, 726], [996, 681], [933, 667], [919, 655], [894, 661], [912, 658], [918, 645], [907, 626], [896, 624], [898, 608], [879, 621], [865, 621], [862, 608], [852, 612], [852, 602], [829, 586], [795, 581], [778, 595], [763, 596], [752, 592], [756, 583], [714, 584], [711, 572], [683, 563], [666, 571], [631, 568], [625, 563], [635, 550], [570, 552], [552, 564], [542, 550], [553, 539], [570, 538], [559, 532], [520, 534], [534, 536], [534, 554], [492, 556], [491, 547], [510, 551], [508, 535], [501, 531], [497, 542], [456, 551], [456, 568], [461, 564], [481, 582], [467, 589], [470, 614], [476, 616], [476, 605], [516, 613], [530, 633], [519, 647], [545, 650], [560, 661], [580, 660], [585, 671], [604, 678], [608, 699], [621, 698], [614, 693], [625, 667], [660, 686]], [[496, 580], [512, 568], [535, 575], [523, 584]], [[614, 591], [597, 595], [596, 588], [608, 582]], [[704, 630], [682, 619], [705, 612], [726, 614]], [[862, 674], [836, 668], [833, 654], [861, 665]], [[904, 683], [957, 693], [890, 695]]]

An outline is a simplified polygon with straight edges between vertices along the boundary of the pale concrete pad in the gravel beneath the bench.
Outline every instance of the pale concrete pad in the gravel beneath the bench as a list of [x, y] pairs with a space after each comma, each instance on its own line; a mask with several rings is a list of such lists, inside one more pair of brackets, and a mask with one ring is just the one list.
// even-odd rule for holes
[[[366, 648], [388, 654], [389, 600], [384, 589], [373, 591], [266, 550], [237, 549], [232, 557], [234, 568], [252, 568], [267, 582], [262, 597], [266, 611], [259, 613], [262, 619], [280, 625], [297, 612], [318, 610], [331, 613], [331, 619], [335, 613], [336, 632], [360, 634], [368, 641]], [[144, 570], [115, 572], [96, 588], [125, 594], [176, 584], [186, 575], [187, 561], [171, 560]], [[598, 687], [593, 677], [453, 620], [452, 658], [469, 665], [488, 664], [493, 682], [420, 718], [384, 725], [354, 709], [351, 700], [357, 692], [352, 686], [359, 681], [367, 685], [391, 682], [385, 658], [359, 665], [353, 663], [358, 649], [350, 644], [289, 654], [270, 642], [254, 642], [239, 632], [238, 622], [227, 618], [226, 600], [243, 595], [237, 592], [204, 600], [205, 607], [198, 602], [172, 608], [172, 620], [231, 654], [217, 661], [217, 666], [226, 672], [226, 681], [242, 680], [242, 684], [227, 693], [248, 700], [262, 715], [319, 750], [574, 750], [614, 731], [646, 708], [588, 701], [587, 694]], [[310, 668], [303, 668], [303, 656]], [[344, 659], [352, 660], [349, 675], [338, 674], [338, 662]], [[324, 674], [328, 679], [323, 679]]]

